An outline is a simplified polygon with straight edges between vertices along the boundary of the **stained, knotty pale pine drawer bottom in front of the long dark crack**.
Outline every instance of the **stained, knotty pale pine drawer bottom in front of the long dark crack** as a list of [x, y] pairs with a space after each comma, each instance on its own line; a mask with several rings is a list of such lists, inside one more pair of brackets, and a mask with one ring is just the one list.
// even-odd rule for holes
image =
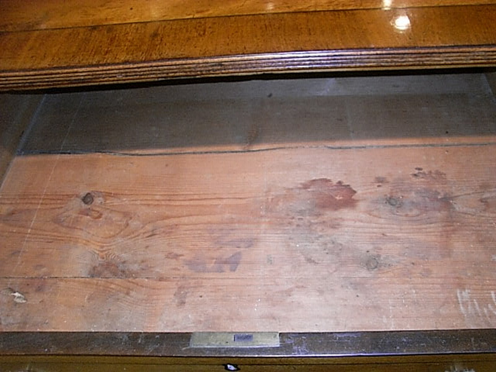
[[2, 329], [494, 327], [494, 154], [16, 158]]

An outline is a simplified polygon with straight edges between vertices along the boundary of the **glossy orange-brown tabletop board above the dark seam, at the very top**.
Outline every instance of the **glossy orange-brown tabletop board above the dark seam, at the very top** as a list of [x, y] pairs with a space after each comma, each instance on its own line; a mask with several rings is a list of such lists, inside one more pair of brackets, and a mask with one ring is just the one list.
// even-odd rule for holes
[[15, 1], [3, 0], [0, 31], [101, 26], [185, 18], [271, 14], [345, 9], [392, 9], [424, 6], [494, 4], [494, 0], [201, 0], [201, 1]]

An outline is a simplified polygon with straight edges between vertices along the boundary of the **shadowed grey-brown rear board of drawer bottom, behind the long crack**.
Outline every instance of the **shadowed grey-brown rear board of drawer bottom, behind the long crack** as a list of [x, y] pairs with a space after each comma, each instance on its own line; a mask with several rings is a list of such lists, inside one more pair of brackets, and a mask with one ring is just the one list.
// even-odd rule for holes
[[493, 135], [496, 101], [484, 72], [262, 75], [48, 91], [20, 154]]

